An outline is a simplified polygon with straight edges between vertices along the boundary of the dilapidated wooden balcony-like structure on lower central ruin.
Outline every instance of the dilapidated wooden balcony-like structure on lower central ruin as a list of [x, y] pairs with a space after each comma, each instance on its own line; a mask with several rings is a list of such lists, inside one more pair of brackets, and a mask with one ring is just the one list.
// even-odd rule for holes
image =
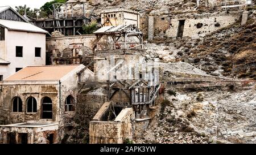
[[[109, 81], [109, 101], [118, 94], [119, 102], [115, 102], [115, 106], [133, 107], [137, 119], [148, 119], [160, 89], [159, 83], [152, 82], [142, 79]], [[123, 102], [123, 98], [129, 98], [129, 102]]]

